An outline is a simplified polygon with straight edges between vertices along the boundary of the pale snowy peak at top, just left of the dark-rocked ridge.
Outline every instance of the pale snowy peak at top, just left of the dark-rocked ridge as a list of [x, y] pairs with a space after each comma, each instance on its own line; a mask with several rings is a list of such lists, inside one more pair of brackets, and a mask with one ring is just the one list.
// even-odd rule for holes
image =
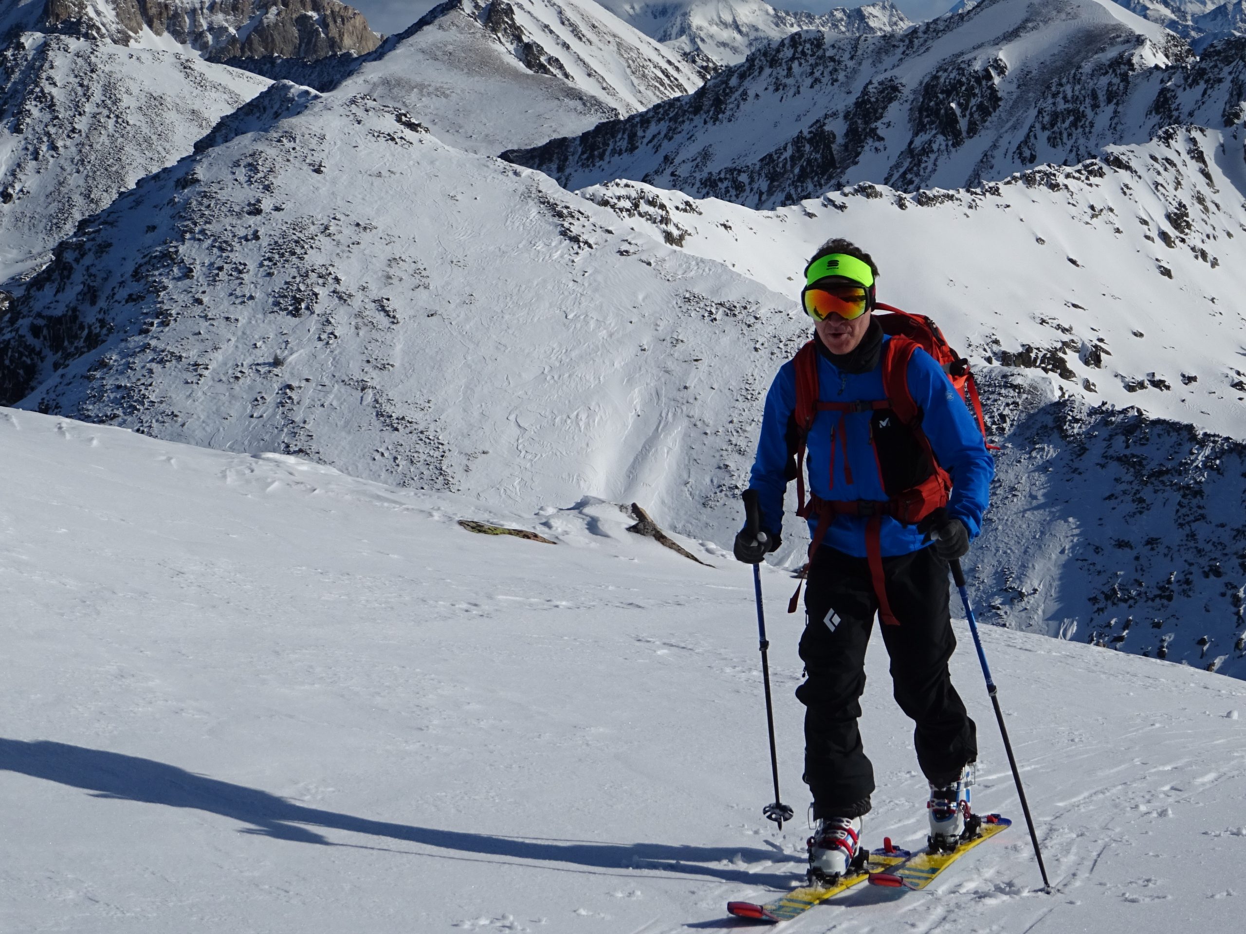
[[592, 0], [449, 0], [368, 56], [346, 88], [492, 156], [643, 111], [701, 80]]

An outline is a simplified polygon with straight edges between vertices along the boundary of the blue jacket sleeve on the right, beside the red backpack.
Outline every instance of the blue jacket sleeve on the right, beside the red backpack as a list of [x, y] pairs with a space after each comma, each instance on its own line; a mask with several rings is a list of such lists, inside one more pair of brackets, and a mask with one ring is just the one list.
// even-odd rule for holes
[[925, 350], [918, 349], [908, 364], [908, 391], [922, 410], [922, 431], [934, 456], [952, 477], [947, 514], [963, 522], [971, 538], [977, 537], [996, 474], [978, 423], [943, 367]]

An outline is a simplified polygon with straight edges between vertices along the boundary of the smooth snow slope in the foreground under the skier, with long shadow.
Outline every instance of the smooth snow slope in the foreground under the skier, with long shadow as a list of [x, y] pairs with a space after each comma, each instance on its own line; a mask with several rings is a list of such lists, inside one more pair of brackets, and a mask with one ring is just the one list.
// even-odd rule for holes
[[[736, 928], [801, 872], [771, 800], [748, 572], [609, 503], [446, 494], [0, 410], [0, 917], [22, 932]], [[562, 507], [569, 506], [561, 504]], [[558, 542], [472, 535], [456, 518]], [[766, 572], [782, 796], [797, 628]], [[968, 635], [979, 809], [1018, 804]], [[933, 894], [786, 930], [1234, 930], [1246, 687], [987, 626], [1022, 826]], [[866, 838], [918, 844], [911, 727], [868, 656]]]

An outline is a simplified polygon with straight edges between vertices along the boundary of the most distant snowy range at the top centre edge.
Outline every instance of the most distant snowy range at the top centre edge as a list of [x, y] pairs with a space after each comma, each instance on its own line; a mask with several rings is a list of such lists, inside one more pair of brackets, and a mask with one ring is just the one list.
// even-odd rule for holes
[[902, 32], [912, 24], [891, 0], [825, 14], [778, 10], [763, 0], [604, 0], [602, 4], [690, 62], [711, 68], [736, 65], [776, 40], [802, 29], [845, 36]]

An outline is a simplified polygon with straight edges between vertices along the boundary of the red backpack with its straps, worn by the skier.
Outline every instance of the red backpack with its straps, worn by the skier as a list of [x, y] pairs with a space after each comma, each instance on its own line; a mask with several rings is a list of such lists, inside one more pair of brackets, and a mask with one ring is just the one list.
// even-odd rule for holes
[[[866, 523], [866, 559], [870, 564], [870, 577], [873, 582], [873, 590], [878, 598], [878, 618], [886, 625], [897, 625], [898, 620], [891, 613], [891, 604], [887, 600], [887, 590], [882, 574], [882, 544], [881, 529], [882, 517], [891, 516], [897, 522], [913, 526], [947, 506], [948, 494], [952, 492], [952, 479], [948, 477], [934, 456], [930, 438], [921, 428], [921, 412], [908, 391], [908, 361], [912, 360], [913, 351], [918, 347], [930, 354], [943, 367], [948, 380], [956, 386], [962, 399], [966, 399], [978, 417], [978, 427], [983, 440], [987, 435], [986, 421], [982, 417], [982, 401], [978, 397], [978, 387], [973, 382], [969, 372], [969, 361], [963, 359], [948, 345], [943, 333], [930, 318], [925, 315], [912, 315], [901, 311], [898, 308], [875, 305], [876, 310], [890, 311], [880, 315], [878, 324], [882, 333], [891, 336], [882, 347], [882, 389], [885, 399], [857, 400], [854, 402], [822, 402], [819, 400], [817, 386], [817, 346], [815, 341], [809, 341], [802, 346], [794, 359], [796, 365], [796, 410], [795, 421], [799, 437], [796, 453], [796, 514], [804, 519], [817, 518], [817, 531], [814, 540], [809, 545], [809, 560], [812, 563], [814, 554], [822, 543], [826, 529], [835, 521], [836, 516], [861, 516], [867, 517]], [[846, 479], [852, 482], [852, 468], [847, 457], [847, 427], [844, 417], [849, 412], [868, 412], [873, 410], [890, 408], [896, 417], [908, 427], [917, 441], [927, 466], [926, 476], [906, 489], [893, 493], [886, 501], [877, 499], [822, 499], [810, 493], [809, 502], [805, 502], [805, 441], [809, 431], [814, 426], [814, 418], [819, 412], [839, 412], [839, 421], [831, 428], [831, 465], [830, 477], [835, 482], [836, 452], [844, 458], [844, 471]], [[872, 426], [871, 426], [872, 438]], [[876, 451], [877, 455], [877, 451]], [[877, 456], [876, 456], [877, 462]], [[878, 466], [880, 478], [882, 466]], [[800, 585], [792, 594], [787, 604], [787, 611], [795, 613], [800, 600]]]

